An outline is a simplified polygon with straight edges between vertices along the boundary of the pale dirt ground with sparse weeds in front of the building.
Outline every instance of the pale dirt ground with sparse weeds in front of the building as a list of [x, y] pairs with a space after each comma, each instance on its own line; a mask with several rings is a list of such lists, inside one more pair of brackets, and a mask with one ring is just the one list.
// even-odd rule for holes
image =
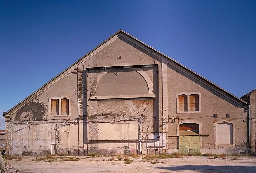
[[[186, 156], [179, 158], [156, 159], [152, 161], [146, 161], [142, 159], [141, 156], [139, 158], [122, 156], [122, 160], [118, 160], [117, 156], [76, 156], [73, 158], [68, 158], [67, 156], [58, 156], [53, 158], [57, 161], [52, 162], [49, 162], [50, 160], [45, 158], [46, 157], [22, 157], [22, 160], [18, 158], [12, 159], [9, 160], [9, 163], [11, 166], [18, 169], [21, 173], [256, 173], [256, 157], [243, 156], [225, 157], [224, 159], [213, 157]], [[79, 160], [64, 161], [76, 159]]]

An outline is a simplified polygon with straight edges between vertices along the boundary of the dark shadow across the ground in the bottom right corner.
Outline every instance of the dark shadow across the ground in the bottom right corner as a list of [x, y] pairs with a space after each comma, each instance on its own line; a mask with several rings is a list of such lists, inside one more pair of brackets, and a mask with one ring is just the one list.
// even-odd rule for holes
[[161, 166], [161, 167], [150, 167], [152, 169], [168, 170], [167, 172], [201, 172], [201, 173], [255, 173], [256, 166], [211, 166], [211, 165], [174, 165], [174, 166]]

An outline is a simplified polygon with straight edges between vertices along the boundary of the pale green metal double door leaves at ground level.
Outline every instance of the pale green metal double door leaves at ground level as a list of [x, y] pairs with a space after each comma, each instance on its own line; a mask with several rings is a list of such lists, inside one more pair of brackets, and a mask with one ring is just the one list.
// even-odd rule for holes
[[200, 152], [200, 136], [179, 136], [179, 152], [195, 154]]

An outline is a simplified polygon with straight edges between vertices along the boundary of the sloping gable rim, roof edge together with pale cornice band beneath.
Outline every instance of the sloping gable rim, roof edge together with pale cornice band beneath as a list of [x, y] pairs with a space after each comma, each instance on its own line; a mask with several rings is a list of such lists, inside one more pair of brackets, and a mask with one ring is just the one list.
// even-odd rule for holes
[[64, 71], [62, 71], [61, 73], [59, 73], [57, 76], [53, 77], [50, 81], [48, 81], [46, 84], [44, 84], [42, 87], [40, 87], [38, 90], [36, 90], [35, 92], [33, 92], [32, 94], [30, 94], [28, 97], [26, 97], [24, 100], [22, 100], [21, 102], [19, 102], [17, 105], [15, 105], [13, 108], [9, 109], [4, 116], [7, 117], [8, 115], [10, 115], [12, 112], [15, 112], [17, 109], [19, 109], [20, 107], [22, 107], [24, 104], [28, 103], [29, 101], [31, 101], [33, 98], [35, 98], [36, 96], [38, 96], [40, 93], [42, 93], [45, 89], [49, 88], [51, 86], [51, 84], [53, 83], [53, 81], [55, 80], [59, 80], [61, 79], [63, 76], [66, 75], [66, 73], [69, 73], [70, 71], [74, 70], [77, 66], [79, 66], [80, 64], [84, 63], [86, 60], [88, 60], [92, 55], [94, 55], [96, 52], [99, 51], [99, 49], [103, 49], [104, 47], [106, 47], [109, 42], [114, 41], [115, 39], [117, 39], [119, 36], [123, 36], [124, 38], [126, 38], [127, 40], [132, 41], [133, 43], [137, 44], [138, 46], [142, 47], [143, 49], [147, 50], [148, 52], [160, 57], [161, 59], [165, 59], [167, 61], [167, 63], [173, 65], [174, 67], [177, 67], [179, 70], [182, 70], [183, 72], [185, 72], [186, 74], [192, 76], [192, 77], [196, 77], [197, 80], [200, 80], [204, 83], [206, 83], [208, 85], [208, 87], [214, 89], [215, 91], [217, 91], [218, 93], [228, 97], [229, 99], [231, 99], [232, 101], [235, 101], [236, 103], [238, 103], [239, 105], [246, 107], [246, 105], [248, 104], [247, 102], [245, 102], [244, 100], [236, 97], [235, 95], [229, 93], [228, 91], [224, 90], [223, 88], [219, 87], [218, 85], [216, 85], [215, 83], [209, 81], [208, 79], [204, 78], [203, 76], [197, 74], [196, 72], [194, 72], [193, 70], [189, 69], [188, 67], [182, 65], [181, 63], [179, 63], [178, 61], [172, 59], [171, 57], [165, 55], [164, 53], [154, 49], [153, 47], [147, 45], [146, 43], [140, 41], [139, 39], [135, 38], [134, 36], [130, 35], [129, 33], [123, 31], [123, 30], [119, 30], [116, 33], [114, 33], [113, 35], [111, 35], [107, 40], [103, 41], [102, 43], [100, 43], [98, 46], [96, 46], [93, 50], [91, 50], [90, 52], [88, 52], [86, 55], [84, 55], [83, 57], [81, 57], [80, 59], [78, 59], [75, 63], [73, 63], [71, 66], [69, 66], [68, 68], [66, 68]]

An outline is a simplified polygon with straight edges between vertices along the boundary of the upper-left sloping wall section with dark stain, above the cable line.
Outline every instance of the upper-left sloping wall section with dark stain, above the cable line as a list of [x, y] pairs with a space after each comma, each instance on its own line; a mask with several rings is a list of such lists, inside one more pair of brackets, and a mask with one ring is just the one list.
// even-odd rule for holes
[[[75, 73], [75, 70], [74, 70]], [[71, 114], [70, 116], [49, 117], [49, 98], [50, 97], [70, 97]], [[77, 74], [70, 73], [56, 81], [48, 89], [35, 97], [33, 100], [22, 106], [11, 115], [12, 120], [44, 120], [60, 118], [77, 118]]]

